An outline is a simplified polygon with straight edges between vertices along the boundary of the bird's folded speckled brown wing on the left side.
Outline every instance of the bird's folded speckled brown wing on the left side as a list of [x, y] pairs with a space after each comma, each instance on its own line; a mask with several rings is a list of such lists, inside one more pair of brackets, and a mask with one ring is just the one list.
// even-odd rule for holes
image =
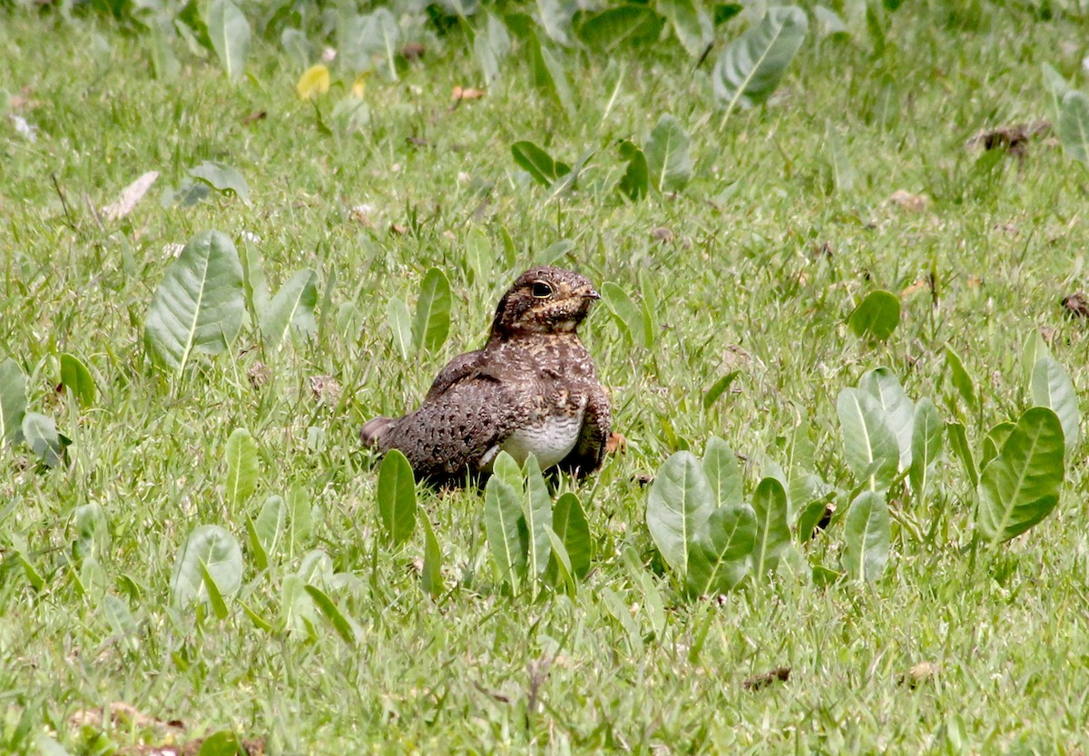
[[383, 434], [381, 446], [383, 451], [401, 450], [417, 477], [464, 478], [479, 472], [486, 454], [514, 432], [522, 404], [505, 383], [474, 373], [435, 397], [429, 393], [416, 412]]

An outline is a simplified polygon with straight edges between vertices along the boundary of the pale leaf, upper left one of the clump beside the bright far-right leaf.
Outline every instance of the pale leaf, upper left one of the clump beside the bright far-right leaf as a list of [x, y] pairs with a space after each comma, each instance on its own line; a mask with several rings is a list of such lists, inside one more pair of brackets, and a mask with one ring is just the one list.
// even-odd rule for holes
[[880, 402], [848, 388], [840, 392], [835, 409], [847, 466], [859, 480], [868, 478], [871, 490], [885, 490], [900, 470], [900, 446]]

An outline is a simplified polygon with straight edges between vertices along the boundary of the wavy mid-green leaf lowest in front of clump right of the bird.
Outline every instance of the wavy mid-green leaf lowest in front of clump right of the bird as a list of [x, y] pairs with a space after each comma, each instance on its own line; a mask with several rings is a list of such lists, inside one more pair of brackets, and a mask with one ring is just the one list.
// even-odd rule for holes
[[688, 552], [685, 585], [693, 596], [718, 596], [733, 590], [748, 572], [757, 548], [752, 508], [723, 507], [711, 513]]

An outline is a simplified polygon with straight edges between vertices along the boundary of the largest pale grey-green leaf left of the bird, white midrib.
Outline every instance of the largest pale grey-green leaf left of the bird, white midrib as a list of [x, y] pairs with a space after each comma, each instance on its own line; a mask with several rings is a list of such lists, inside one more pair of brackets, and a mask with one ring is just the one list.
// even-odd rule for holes
[[167, 269], [148, 308], [144, 342], [151, 359], [181, 375], [195, 353], [219, 354], [242, 328], [242, 265], [219, 231], [189, 240]]

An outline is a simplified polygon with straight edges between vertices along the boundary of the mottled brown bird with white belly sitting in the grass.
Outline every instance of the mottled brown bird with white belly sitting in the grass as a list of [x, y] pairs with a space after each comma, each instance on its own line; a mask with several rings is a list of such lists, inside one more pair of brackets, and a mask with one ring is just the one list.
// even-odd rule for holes
[[611, 435], [609, 394], [578, 326], [600, 300], [579, 273], [530, 268], [500, 298], [488, 340], [451, 359], [419, 407], [375, 417], [363, 442], [401, 451], [418, 480], [486, 480], [501, 451], [519, 464], [583, 478], [601, 466]]

